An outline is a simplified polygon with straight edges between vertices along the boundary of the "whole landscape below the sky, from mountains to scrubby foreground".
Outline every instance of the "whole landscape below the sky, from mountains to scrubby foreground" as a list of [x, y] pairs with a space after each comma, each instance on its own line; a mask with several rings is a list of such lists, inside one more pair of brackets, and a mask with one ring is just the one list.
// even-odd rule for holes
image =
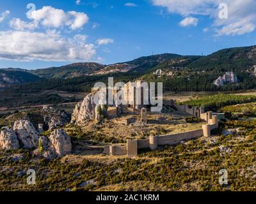
[[[255, 47], [243, 47], [0, 69], [13, 79], [0, 90], [0, 190], [255, 191], [255, 63]], [[163, 82], [163, 109], [144, 107], [143, 116], [93, 105], [93, 84], [108, 77]], [[26, 185], [28, 168], [35, 186]], [[229, 178], [223, 186], [221, 169]]]

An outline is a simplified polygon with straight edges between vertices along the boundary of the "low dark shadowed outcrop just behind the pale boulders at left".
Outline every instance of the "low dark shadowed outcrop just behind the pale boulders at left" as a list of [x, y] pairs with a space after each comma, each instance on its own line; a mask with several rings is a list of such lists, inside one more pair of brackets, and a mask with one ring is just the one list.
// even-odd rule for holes
[[44, 106], [42, 109], [44, 122], [50, 130], [65, 126], [69, 122], [67, 113], [52, 106]]

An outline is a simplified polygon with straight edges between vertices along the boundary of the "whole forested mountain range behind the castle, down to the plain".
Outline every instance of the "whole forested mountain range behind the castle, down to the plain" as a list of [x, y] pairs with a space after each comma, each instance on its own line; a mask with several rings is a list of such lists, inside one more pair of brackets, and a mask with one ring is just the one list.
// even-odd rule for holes
[[[255, 89], [256, 46], [226, 48], [207, 56], [158, 54], [110, 65], [84, 62], [36, 70], [9, 68], [8, 71], [20, 71], [20, 74], [33, 74], [30, 75], [31, 77], [36, 75], [47, 78], [46, 82], [28, 84], [28, 89], [34, 87], [33, 89], [89, 91], [95, 82], [99, 80], [107, 82], [108, 77], [115, 77], [122, 82], [137, 79], [148, 82], [161, 81], [164, 82], [166, 91]], [[216, 78], [227, 71], [234, 72], [239, 83], [227, 84], [223, 87], [214, 85]], [[37, 80], [38, 78], [35, 79]], [[10, 84], [27, 82], [26, 80], [10, 81], [12, 81]], [[8, 84], [8, 82], [4, 83]], [[24, 89], [24, 86], [20, 89]]]

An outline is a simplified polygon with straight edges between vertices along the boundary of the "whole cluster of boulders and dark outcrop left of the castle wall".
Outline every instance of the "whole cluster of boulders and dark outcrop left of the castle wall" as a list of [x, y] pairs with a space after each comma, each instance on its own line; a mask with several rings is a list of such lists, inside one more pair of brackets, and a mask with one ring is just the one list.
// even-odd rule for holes
[[60, 129], [69, 122], [66, 113], [51, 106], [44, 106], [41, 114], [45, 123], [36, 124], [38, 129], [34, 126], [35, 121], [33, 124], [26, 119], [15, 120], [13, 127], [1, 128], [0, 149], [30, 149], [35, 156], [46, 159], [70, 154], [72, 149], [70, 136], [64, 129]]

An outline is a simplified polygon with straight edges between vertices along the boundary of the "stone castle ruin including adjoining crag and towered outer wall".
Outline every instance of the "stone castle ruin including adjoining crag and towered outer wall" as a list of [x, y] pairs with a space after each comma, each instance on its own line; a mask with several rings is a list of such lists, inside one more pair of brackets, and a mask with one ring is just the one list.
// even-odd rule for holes
[[[100, 114], [108, 116], [108, 106], [112, 106], [116, 108], [116, 116], [121, 115], [122, 113], [126, 112], [127, 109], [131, 109], [132, 112], [138, 113], [140, 111], [140, 122], [141, 125], [147, 125], [147, 106], [150, 105], [143, 105], [143, 97], [148, 97], [147, 94], [144, 94], [144, 89], [141, 87], [143, 81], [135, 82], [138, 87], [134, 87], [131, 82], [128, 82], [123, 87], [123, 95], [119, 96], [118, 91], [121, 88], [114, 88], [110, 90], [113, 92], [113, 97], [121, 98], [125, 101], [124, 104], [108, 104], [108, 105], [95, 105], [93, 101], [93, 97], [95, 93], [99, 91], [99, 89], [93, 89], [92, 93], [88, 94], [82, 103], [78, 103], [72, 115], [72, 122], [75, 122], [78, 125], [84, 125], [88, 120], [96, 120], [99, 122]], [[141, 91], [141, 97], [139, 100], [141, 103], [138, 103], [138, 95], [136, 94], [136, 89]], [[109, 88], [106, 88], [106, 98], [108, 98]], [[137, 90], [138, 91], [138, 90]], [[137, 101], [136, 101], [137, 100]], [[99, 100], [100, 101], [100, 100]], [[204, 120], [206, 124], [202, 125], [202, 128], [196, 129], [193, 131], [187, 131], [184, 133], [177, 133], [177, 134], [169, 134], [169, 135], [158, 135], [158, 136], [150, 136], [147, 139], [140, 139], [140, 140], [127, 140], [126, 144], [120, 145], [108, 145], [104, 147], [104, 154], [108, 154], [110, 156], [124, 156], [127, 157], [136, 157], [138, 154], [138, 149], [157, 149], [159, 145], [173, 145], [176, 143], [181, 142], [182, 140], [191, 140], [194, 138], [198, 138], [200, 136], [211, 136], [211, 130], [218, 128], [218, 116], [212, 115], [212, 112], [206, 112], [203, 106], [192, 106], [189, 107], [188, 105], [177, 105], [175, 100], [169, 101], [172, 106], [175, 106], [177, 110], [180, 112], [186, 112], [189, 115], [193, 115], [195, 117], [200, 117], [200, 119]], [[99, 113], [99, 110], [101, 113]]]

